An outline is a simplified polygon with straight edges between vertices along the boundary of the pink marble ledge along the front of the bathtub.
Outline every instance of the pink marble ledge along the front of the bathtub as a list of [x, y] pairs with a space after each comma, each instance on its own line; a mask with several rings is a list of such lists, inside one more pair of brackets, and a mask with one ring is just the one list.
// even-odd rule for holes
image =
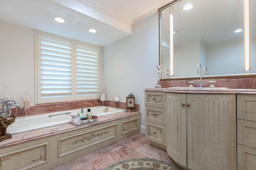
[[[25, 143], [25, 142], [29, 142], [29, 141], [34, 141], [37, 139], [42, 139], [42, 138], [49, 137], [52, 135], [58, 135], [61, 133], [66, 133], [66, 132], [70, 132], [73, 130], [82, 129], [84, 127], [90, 127], [90, 126], [98, 125], [101, 123], [106, 123], [106, 122], [122, 119], [125, 117], [130, 117], [133, 115], [139, 115], [139, 114], [141, 114], [139, 111], [137, 111], [137, 112], [124, 111], [124, 112], [120, 112], [120, 113], [99, 116], [98, 121], [95, 121], [92, 123], [87, 123], [84, 125], [75, 126], [75, 125], [72, 125], [71, 123], [64, 123], [64, 124], [60, 124], [60, 125], [44, 127], [41, 129], [35, 129], [35, 130], [26, 131], [26, 132], [22, 132], [22, 133], [16, 133], [16, 134], [12, 135], [12, 139], [6, 139], [4, 141], [1, 141], [0, 149], [5, 148], [5, 147], [10, 147], [13, 145], [18, 145], [18, 144]], [[7, 133], [8, 133], [8, 131], [7, 131]]]

